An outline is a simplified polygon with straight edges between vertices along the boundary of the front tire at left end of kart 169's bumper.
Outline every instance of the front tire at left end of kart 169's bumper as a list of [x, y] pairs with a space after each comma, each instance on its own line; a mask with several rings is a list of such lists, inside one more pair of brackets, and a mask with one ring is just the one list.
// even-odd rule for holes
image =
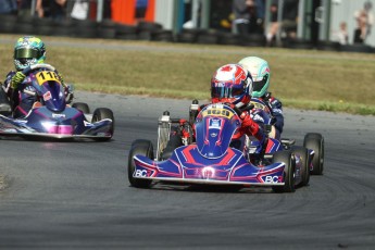
[[152, 142], [150, 140], [143, 139], [135, 140], [132, 143], [132, 148], [127, 160], [127, 178], [129, 179], [130, 185], [136, 188], [149, 188], [152, 184], [151, 179], [135, 178], [133, 176], [136, 168], [133, 158], [137, 154], [153, 160], [154, 158]]

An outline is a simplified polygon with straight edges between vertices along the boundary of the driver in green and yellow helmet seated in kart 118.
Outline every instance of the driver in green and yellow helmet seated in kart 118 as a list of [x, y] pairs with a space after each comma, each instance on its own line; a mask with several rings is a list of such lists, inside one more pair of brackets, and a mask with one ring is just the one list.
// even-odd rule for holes
[[[14, 46], [14, 66], [16, 72], [11, 71], [7, 75], [2, 88], [0, 89], [2, 97], [1, 110], [4, 110], [3, 105], [10, 105], [14, 118], [24, 117], [27, 115], [33, 104], [36, 102], [36, 97], [23, 92], [23, 89], [33, 91], [32, 86], [23, 86], [21, 83], [25, 79], [25, 75], [22, 73], [26, 67], [43, 63], [46, 60], [46, 47], [45, 43], [37, 37], [24, 36], [17, 39]], [[65, 88], [65, 96], [67, 102], [73, 98], [73, 93], [68, 87], [64, 84], [61, 74], [55, 71], [60, 77], [60, 82]], [[5, 93], [5, 95], [4, 95]]]

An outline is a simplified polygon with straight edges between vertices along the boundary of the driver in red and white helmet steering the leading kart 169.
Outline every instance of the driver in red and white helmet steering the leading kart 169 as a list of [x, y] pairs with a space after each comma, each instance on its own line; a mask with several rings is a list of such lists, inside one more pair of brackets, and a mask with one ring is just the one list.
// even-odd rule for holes
[[[239, 64], [226, 64], [215, 71], [211, 78], [211, 103], [226, 103], [233, 109], [247, 110], [251, 100], [252, 92], [252, 77], [250, 73]], [[199, 112], [207, 107], [203, 104], [197, 107], [197, 109], [190, 113], [190, 123], [192, 125], [196, 116]], [[249, 107], [250, 108], [250, 107]], [[191, 112], [191, 111], [190, 111]], [[265, 150], [267, 142], [267, 136], [264, 132], [263, 120], [260, 115], [257, 115], [257, 109], [243, 111], [240, 114], [242, 120], [241, 127], [236, 130], [230, 147], [239, 150], [243, 149], [245, 137], [257, 138]], [[195, 134], [195, 129], [192, 132]], [[183, 145], [184, 141], [188, 141], [190, 132], [186, 132], [185, 128], [178, 129], [178, 127], [171, 128], [170, 140], [166, 148], [163, 151], [163, 159], [168, 159], [174, 149]], [[192, 136], [195, 137], [195, 135]]]

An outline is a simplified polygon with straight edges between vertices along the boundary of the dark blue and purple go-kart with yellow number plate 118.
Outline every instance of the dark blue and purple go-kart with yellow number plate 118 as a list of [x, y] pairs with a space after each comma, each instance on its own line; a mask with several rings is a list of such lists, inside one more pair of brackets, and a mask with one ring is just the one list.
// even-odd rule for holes
[[0, 136], [34, 138], [89, 138], [107, 141], [114, 132], [113, 112], [98, 108], [91, 114], [87, 103], [66, 104], [65, 89], [50, 64], [35, 64], [23, 71], [25, 93], [36, 102], [23, 118], [0, 114]]

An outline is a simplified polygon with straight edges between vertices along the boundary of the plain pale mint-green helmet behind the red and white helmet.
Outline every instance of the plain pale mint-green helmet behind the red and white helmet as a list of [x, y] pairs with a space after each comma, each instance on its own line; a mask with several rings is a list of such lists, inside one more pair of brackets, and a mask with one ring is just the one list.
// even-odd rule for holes
[[248, 57], [238, 62], [246, 70], [250, 72], [253, 79], [252, 97], [260, 98], [263, 97], [270, 86], [271, 70], [267, 61], [257, 58]]

